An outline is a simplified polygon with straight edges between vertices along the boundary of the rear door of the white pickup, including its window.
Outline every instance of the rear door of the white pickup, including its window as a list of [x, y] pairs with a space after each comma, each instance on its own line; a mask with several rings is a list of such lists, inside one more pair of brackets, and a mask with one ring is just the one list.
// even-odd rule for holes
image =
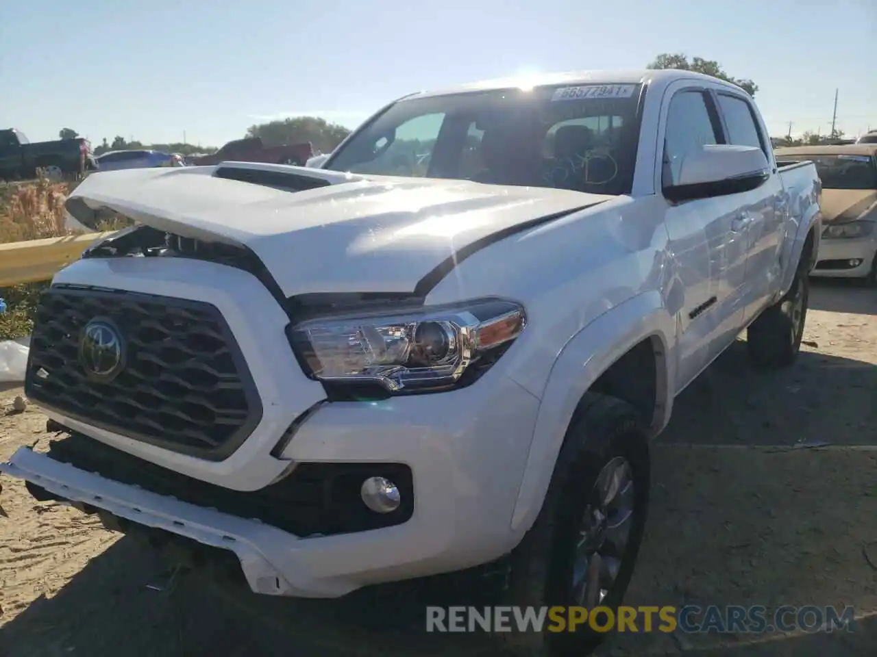
[[776, 173], [773, 148], [757, 118], [759, 115], [752, 100], [742, 92], [737, 94], [724, 87], [718, 88], [715, 94], [728, 143], [760, 148], [772, 166], [771, 177], [764, 185], [745, 194], [736, 194], [742, 197], [742, 203], [733, 223], [735, 227], [742, 227], [746, 258], [745, 267], [738, 264], [730, 272], [730, 284], [735, 297], [742, 299], [745, 319], [748, 319], [758, 314], [770, 300], [781, 274], [780, 256], [788, 201]]

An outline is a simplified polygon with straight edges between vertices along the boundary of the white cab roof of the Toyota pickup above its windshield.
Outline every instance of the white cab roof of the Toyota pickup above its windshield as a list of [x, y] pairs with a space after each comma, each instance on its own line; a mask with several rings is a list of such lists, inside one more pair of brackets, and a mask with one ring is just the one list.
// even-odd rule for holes
[[640, 84], [645, 82], [660, 83], [664, 86], [676, 80], [701, 80], [725, 84], [729, 88], [741, 91], [732, 82], [719, 80], [711, 75], [685, 71], [676, 68], [644, 68], [632, 71], [569, 71], [567, 73], [540, 73], [522, 74], [494, 80], [470, 82], [457, 87], [437, 89], [434, 91], [420, 91], [416, 94], [405, 96], [408, 98], [424, 98], [433, 95], [464, 94], [473, 91], [496, 91], [508, 88], [533, 88], [544, 87], [554, 84]]

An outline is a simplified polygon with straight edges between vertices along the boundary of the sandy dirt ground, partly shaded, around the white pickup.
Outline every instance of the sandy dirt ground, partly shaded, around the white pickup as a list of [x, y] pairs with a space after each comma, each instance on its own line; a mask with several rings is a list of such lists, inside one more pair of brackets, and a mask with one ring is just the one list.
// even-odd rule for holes
[[[795, 367], [757, 374], [738, 343], [676, 400], [653, 449], [652, 508], [627, 602], [852, 605], [855, 632], [628, 634], [601, 653], [877, 654], [877, 291], [823, 283], [810, 305]], [[0, 389], [0, 459], [46, 439], [39, 411], [11, 412], [18, 394]], [[413, 629], [423, 624], [417, 583], [295, 601], [196, 572], [152, 590], [168, 571], [138, 540], [36, 503], [9, 477], [2, 484], [3, 657], [496, 653], [471, 635]]]

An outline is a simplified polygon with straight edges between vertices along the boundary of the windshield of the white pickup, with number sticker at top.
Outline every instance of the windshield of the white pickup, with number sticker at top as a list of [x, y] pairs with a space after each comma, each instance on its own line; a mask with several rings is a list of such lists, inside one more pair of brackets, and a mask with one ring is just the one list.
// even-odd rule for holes
[[630, 194], [639, 88], [590, 84], [402, 100], [324, 168]]

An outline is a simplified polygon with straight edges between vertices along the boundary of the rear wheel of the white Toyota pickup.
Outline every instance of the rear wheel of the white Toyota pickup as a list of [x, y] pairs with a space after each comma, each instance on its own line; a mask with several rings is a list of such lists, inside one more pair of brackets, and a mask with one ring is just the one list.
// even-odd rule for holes
[[795, 362], [804, 336], [809, 293], [809, 272], [802, 262], [788, 293], [765, 308], [746, 330], [749, 359], [756, 368], [779, 370]]

